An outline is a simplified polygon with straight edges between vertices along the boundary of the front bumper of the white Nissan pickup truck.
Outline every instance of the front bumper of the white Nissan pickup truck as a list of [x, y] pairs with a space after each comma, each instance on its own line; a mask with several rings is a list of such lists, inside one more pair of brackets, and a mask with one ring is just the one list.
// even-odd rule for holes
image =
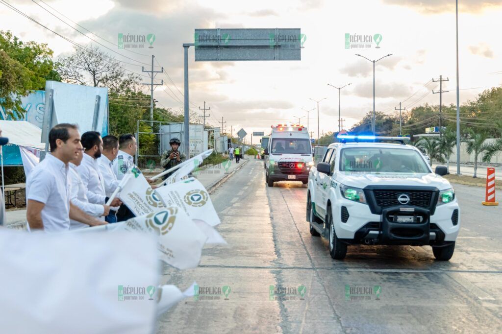
[[[409, 212], [411, 209], [413, 213]], [[337, 237], [351, 244], [440, 245], [455, 241], [460, 229], [456, 200], [437, 206], [432, 215], [428, 209], [409, 206], [388, 207], [380, 215], [373, 214], [368, 205], [346, 199], [338, 200], [332, 210]], [[401, 223], [395, 216], [415, 218], [413, 222]]]

